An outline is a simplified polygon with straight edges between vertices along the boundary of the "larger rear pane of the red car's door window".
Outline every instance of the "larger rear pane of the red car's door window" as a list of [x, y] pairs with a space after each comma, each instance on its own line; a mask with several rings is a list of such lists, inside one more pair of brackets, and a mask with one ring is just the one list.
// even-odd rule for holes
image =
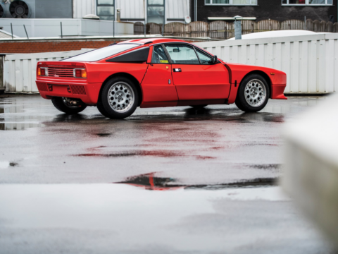
[[194, 48], [184, 44], [166, 44], [172, 63], [199, 64]]

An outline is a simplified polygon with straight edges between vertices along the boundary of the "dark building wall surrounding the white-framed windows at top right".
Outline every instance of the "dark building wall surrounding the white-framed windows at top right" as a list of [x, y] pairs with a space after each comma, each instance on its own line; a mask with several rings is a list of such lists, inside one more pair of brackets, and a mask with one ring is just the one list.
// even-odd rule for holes
[[[273, 19], [284, 21], [289, 19], [329, 21], [330, 15], [334, 16], [337, 22], [338, 0], [333, 0], [333, 6], [282, 6], [281, 0], [258, 0], [258, 6], [206, 6], [204, 0], [197, 0], [197, 20], [206, 21], [208, 17], [256, 17], [257, 21]], [[190, 0], [194, 6], [194, 0]], [[194, 17], [194, 13], [191, 14]]]

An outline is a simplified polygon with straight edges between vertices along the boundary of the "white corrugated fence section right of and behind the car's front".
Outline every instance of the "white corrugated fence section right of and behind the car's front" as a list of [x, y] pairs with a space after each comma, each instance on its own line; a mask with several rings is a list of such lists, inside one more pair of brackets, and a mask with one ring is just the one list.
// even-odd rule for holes
[[284, 71], [285, 92], [338, 91], [337, 33], [194, 44], [229, 63]]

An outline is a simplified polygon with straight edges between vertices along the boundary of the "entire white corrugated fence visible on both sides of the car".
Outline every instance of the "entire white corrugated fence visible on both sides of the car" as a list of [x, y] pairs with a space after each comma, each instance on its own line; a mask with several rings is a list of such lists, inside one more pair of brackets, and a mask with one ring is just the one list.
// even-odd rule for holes
[[[287, 73], [285, 92], [338, 91], [338, 34], [316, 34], [252, 40], [196, 42], [230, 63], [276, 68]], [[6, 92], [37, 92], [37, 61], [55, 61], [73, 52], [12, 54], [4, 58]]]

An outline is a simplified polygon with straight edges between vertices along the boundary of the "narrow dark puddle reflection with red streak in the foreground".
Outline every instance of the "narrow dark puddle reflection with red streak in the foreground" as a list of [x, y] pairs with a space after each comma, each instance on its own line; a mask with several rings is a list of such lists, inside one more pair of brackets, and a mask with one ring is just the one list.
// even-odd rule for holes
[[139, 176], [131, 176], [125, 181], [119, 183], [127, 183], [132, 186], [142, 187], [151, 191], [176, 190], [183, 188], [186, 190], [204, 189], [204, 190], [222, 190], [227, 188], [258, 188], [277, 186], [277, 178], [252, 179], [250, 181], [238, 181], [235, 183], [218, 183], [214, 185], [183, 185], [177, 184], [177, 179], [168, 177], [155, 176], [156, 173], [142, 174]]

